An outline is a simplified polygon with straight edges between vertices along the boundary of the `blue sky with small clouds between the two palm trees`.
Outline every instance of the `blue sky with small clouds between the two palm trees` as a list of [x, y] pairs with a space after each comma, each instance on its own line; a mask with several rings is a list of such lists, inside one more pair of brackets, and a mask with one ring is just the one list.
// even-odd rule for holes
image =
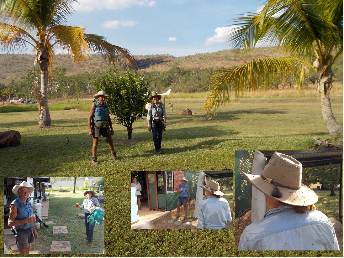
[[67, 25], [106, 37], [133, 55], [176, 57], [228, 49], [231, 20], [258, 0], [78, 0]]

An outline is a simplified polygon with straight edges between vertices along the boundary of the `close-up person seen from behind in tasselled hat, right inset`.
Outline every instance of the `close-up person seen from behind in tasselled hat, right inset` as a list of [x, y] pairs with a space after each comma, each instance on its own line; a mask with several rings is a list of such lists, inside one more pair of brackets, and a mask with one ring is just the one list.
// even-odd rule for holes
[[339, 250], [331, 221], [316, 211], [318, 196], [301, 183], [298, 160], [275, 152], [261, 176], [243, 175], [273, 209], [245, 228], [238, 250]]

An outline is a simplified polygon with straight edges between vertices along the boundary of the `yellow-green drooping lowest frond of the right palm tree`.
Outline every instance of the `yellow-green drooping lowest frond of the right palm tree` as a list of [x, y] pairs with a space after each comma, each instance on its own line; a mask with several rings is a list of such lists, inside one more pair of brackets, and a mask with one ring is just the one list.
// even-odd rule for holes
[[201, 115], [214, 116], [231, 99], [238, 99], [247, 92], [267, 90], [278, 81], [293, 77], [297, 63], [302, 60], [289, 57], [254, 59], [239, 67], [217, 70], [208, 84], [211, 93]]

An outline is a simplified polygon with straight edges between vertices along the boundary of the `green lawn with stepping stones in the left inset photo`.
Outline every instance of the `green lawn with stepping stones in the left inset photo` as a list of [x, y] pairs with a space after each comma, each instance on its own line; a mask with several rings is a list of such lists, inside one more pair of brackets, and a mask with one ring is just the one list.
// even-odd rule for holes
[[[46, 249], [50, 252], [52, 241], [70, 241], [72, 251], [71, 254], [87, 254], [87, 253], [101, 253], [104, 251], [104, 225], [94, 227], [93, 242], [90, 247], [87, 246], [86, 229], [84, 220], [79, 220], [76, 216], [84, 211], [75, 207], [76, 203], [82, 204], [85, 199], [84, 190], [76, 190], [72, 192], [51, 192], [49, 203], [49, 216], [43, 222], [53, 221], [55, 224], [45, 227], [42, 225], [41, 229], [37, 229], [38, 238], [35, 243], [31, 245], [30, 250]], [[43, 202], [43, 205], [45, 202]], [[100, 203], [104, 209], [104, 203]], [[54, 226], [66, 226], [68, 234], [53, 234]], [[10, 254], [19, 254], [19, 251], [11, 250], [7, 246]], [[50, 252], [50, 254], [64, 254], [63, 252]]]

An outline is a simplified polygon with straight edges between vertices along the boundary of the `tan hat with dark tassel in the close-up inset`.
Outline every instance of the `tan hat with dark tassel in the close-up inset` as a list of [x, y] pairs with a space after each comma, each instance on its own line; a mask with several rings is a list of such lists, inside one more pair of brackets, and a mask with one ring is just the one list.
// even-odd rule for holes
[[316, 193], [301, 183], [302, 164], [286, 154], [275, 152], [261, 176], [243, 175], [259, 191], [280, 202], [308, 206], [318, 201]]

